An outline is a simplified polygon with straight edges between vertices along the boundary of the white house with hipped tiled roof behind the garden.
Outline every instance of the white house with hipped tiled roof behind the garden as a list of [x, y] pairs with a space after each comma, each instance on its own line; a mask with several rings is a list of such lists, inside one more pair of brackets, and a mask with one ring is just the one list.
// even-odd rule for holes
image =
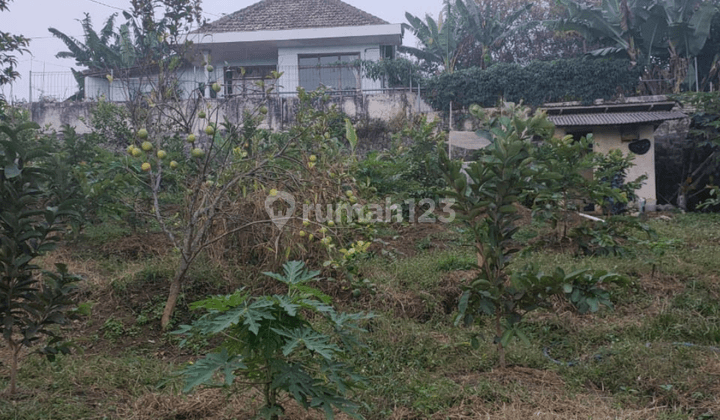
[[252, 92], [272, 72], [282, 73], [275, 82], [281, 94], [320, 86], [367, 92], [383, 82], [364, 77], [359, 61], [392, 58], [402, 29], [340, 0], [262, 0], [205, 24], [190, 39], [199, 60], [213, 64], [206, 86], [222, 84], [220, 95]]

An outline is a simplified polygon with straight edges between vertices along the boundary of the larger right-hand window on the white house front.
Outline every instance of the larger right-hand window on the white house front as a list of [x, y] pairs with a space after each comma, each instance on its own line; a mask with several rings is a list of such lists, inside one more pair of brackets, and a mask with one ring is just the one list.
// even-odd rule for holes
[[360, 54], [301, 55], [300, 86], [307, 91], [325, 86], [330, 90], [360, 89]]

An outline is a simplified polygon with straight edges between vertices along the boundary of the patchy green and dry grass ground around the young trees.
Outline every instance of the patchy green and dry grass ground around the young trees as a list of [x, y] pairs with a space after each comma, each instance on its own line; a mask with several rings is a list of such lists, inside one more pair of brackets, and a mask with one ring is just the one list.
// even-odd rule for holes
[[[578, 315], [558, 300], [553, 310], [529, 316], [530, 343], [510, 345], [504, 370], [496, 368], [489, 329], [453, 325], [474, 259], [457, 228], [381, 230], [382, 246], [360, 266], [369, 280], [360, 296], [336, 294], [340, 306], [379, 315], [364, 337], [370, 352], [352, 360], [368, 378], [354, 396], [365, 417], [720, 418], [720, 217], [673, 214], [649, 223], [659, 238], [625, 244], [629, 254], [622, 257], [580, 257], [557, 246], [518, 257], [518, 266], [603, 268], [633, 281], [612, 290], [614, 310]], [[179, 394], [173, 373], [212, 343], [180, 349], [159, 330], [176, 256], [157, 234], [104, 229], [90, 229], [83, 245], [44, 261], [68, 262], [86, 278], [81, 301], [92, 314], [69, 330], [81, 351], [54, 363], [27, 355], [21, 392], [0, 399], [0, 419], [251, 418], [260, 405], [253, 391]], [[532, 238], [535, 230], [528, 225], [520, 236]], [[176, 324], [190, 319], [193, 300], [258, 286], [254, 278], [243, 267], [201, 261]], [[472, 333], [486, 337], [478, 350], [470, 346]], [[0, 347], [3, 363], [6, 356]], [[7, 381], [3, 364], [0, 388]], [[286, 414], [322, 418], [290, 402]]]

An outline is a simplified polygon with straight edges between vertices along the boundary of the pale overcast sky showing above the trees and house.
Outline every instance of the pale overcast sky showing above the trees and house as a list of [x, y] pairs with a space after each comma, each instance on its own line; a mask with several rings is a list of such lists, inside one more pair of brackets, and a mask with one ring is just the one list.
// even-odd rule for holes
[[[390, 23], [405, 22], [405, 12], [416, 16], [431, 14], [437, 17], [442, 8], [442, 0], [344, 0], [361, 10], [382, 18]], [[228, 14], [247, 7], [256, 0], [203, 0], [204, 17], [210, 21], [216, 20], [223, 14]], [[56, 59], [55, 54], [66, 51], [67, 48], [59, 39], [48, 32], [49, 27], [83, 40], [82, 28], [78, 20], [84, 13], [90, 13], [96, 30], [102, 28], [108, 16], [114, 12], [127, 10], [129, 0], [14, 0], [9, 4], [9, 11], [0, 13], [0, 29], [12, 34], [21, 34], [31, 38], [30, 54], [18, 56], [21, 79], [12, 86], [12, 96], [18, 99], [27, 99], [29, 94], [28, 77], [32, 70], [36, 74], [46, 73], [46, 83], [61, 84], [67, 77], [54, 72], [69, 73], [73, 67], [72, 59]], [[124, 19], [120, 18], [118, 22]], [[406, 34], [404, 43], [414, 43]], [[37, 84], [36, 84], [37, 85]], [[10, 99], [10, 86], [0, 88], [6, 98]], [[39, 92], [33, 93], [37, 99]]]

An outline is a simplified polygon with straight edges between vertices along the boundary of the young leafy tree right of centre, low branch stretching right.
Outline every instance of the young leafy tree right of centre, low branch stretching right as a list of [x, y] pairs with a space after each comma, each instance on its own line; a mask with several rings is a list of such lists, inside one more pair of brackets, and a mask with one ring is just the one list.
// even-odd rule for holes
[[[465, 168], [441, 150], [449, 194], [456, 200], [458, 219], [473, 235], [477, 252], [476, 276], [463, 287], [456, 323], [482, 324], [485, 317], [491, 317], [493, 341], [504, 368], [510, 340], [527, 341], [520, 328], [525, 314], [549, 306], [552, 295], [565, 295], [581, 312], [596, 311], [600, 304], [609, 306], [608, 295], [597, 285], [620, 281], [620, 276], [589, 270], [543, 273], [532, 266], [510, 269], [512, 255], [520, 251], [513, 240], [520, 220], [519, 203], [536, 184], [558, 178], [556, 173], [538, 170], [531, 141], [534, 136], [550, 138], [554, 125], [543, 113], [531, 115], [529, 108], [512, 103], [502, 105], [493, 115], [477, 105], [471, 106], [470, 112], [480, 119], [483, 136], [491, 139], [491, 144]], [[472, 343], [479, 346], [475, 337]]]

